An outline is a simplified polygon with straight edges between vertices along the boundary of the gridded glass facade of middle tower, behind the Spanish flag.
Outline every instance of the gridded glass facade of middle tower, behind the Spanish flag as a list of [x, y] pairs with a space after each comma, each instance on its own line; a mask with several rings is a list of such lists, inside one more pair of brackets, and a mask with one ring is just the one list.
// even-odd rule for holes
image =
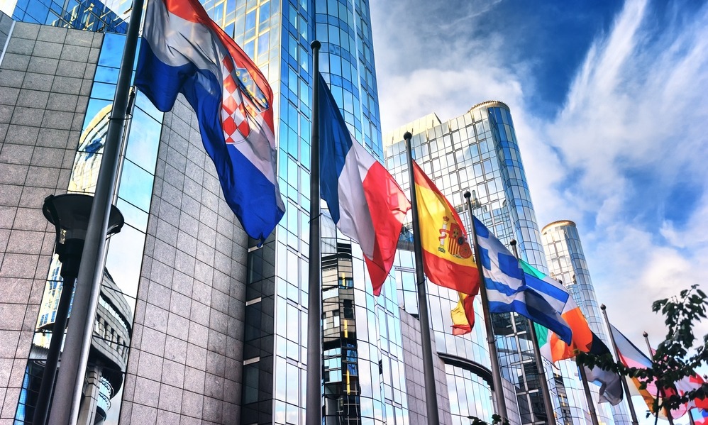
[[[541, 238], [508, 107], [502, 102], [485, 102], [474, 106], [467, 114], [446, 122], [441, 122], [434, 115], [426, 117], [426, 121], [427, 128], [420, 128], [412, 138], [413, 157], [457, 207], [465, 226], [469, 227], [469, 220], [463, 193], [474, 190], [480, 202], [480, 208], [474, 211], [475, 216], [502, 243], [508, 245], [511, 239], [519, 241], [521, 257], [540, 270], [546, 270]], [[386, 147], [386, 164], [397, 181], [402, 182], [402, 186], [407, 189], [408, 166], [401, 136], [387, 136], [386, 140], [392, 144]], [[400, 266], [405, 267], [403, 264]], [[414, 304], [414, 297], [409, 293], [414, 292], [415, 288], [413, 280], [404, 275], [405, 270], [402, 268], [397, 278], [400, 279], [399, 288], [404, 294], [406, 311], [410, 311], [409, 304]], [[489, 351], [484, 326], [480, 326], [483, 319], [479, 304], [475, 309], [477, 326], [472, 333], [463, 337], [453, 336], [449, 311], [455, 307], [457, 294], [435, 285], [428, 287], [431, 292], [428, 302], [438, 352], [469, 358], [489, 369]], [[478, 302], [475, 300], [475, 303]], [[516, 389], [521, 423], [543, 423], [546, 415], [543, 413], [543, 401], [538, 390], [539, 382], [526, 319], [499, 314], [494, 315], [493, 321], [503, 366], [502, 374]], [[460, 371], [459, 368], [448, 368], [448, 372], [455, 374], [448, 376], [448, 382], [455, 382], [450, 388], [455, 423], [468, 423], [468, 415], [491, 417], [492, 404], [486, 396], [484, 403], [459, 402], [470, 397], [469, 394], [477, 391], [479, 383], [483, 382], [479, 376], [472, 380], [468, 378], [470, 374], [476, 375], [474, 370], [468, 370], [466, 375], [456, 375]], [[489, 385], [487, 394], [490, 396], [488, 388]]]

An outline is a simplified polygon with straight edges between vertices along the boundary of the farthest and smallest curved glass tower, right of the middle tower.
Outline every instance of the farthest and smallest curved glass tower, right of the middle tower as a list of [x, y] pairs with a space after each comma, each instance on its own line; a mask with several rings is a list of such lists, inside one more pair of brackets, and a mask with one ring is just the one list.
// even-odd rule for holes
[[[607, 346], [612, 346], [607, 337], [607, 328], [604, 324], [602, 311], [599, 309], [595, 290], [590, 280], [590, 270], [587, 268], [585, 254], [582, 253], [580, 235], [577, 232], [575, 223], [570, 220], [553, 221], [543, 227], [543, 247], [546, 250], [546, 260], [548, 260], [548, 270], [551, 277], [563, 282], [565, 288], [573, 296], [573, 300], [585, 315], [590, 329], [597, 334]], [[575, 371], [575, 363], [565, 360], [561, 368]], [[607, 424], [629, 424], [631, 421], [624, 408], [624, 403], [612, 406], [609, 403], [597, 404], [598, 387], [590, 385], [592, 398], [597, 409], [598, 419]], [[585, 399], [581, 403], [573, 404], [571, 409], [573, 421], [577, 424], [584, 423], [585, 412], [579, 407], [587, 405]]]

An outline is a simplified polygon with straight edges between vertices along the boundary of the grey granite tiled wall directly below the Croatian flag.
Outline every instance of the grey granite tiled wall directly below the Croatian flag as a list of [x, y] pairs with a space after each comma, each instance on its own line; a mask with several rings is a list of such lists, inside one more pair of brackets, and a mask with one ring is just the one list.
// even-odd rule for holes
[[227, 348], [243, 329], [248, 236], [215, 175], [180, 96], [160, 136], [121, 424], [240, 416], [243, 353]]

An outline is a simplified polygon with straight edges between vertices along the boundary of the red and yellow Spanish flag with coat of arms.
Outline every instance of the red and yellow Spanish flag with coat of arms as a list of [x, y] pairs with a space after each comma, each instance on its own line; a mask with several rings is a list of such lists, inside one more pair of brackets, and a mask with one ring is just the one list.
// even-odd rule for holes
[[[423, 268], [431, 282], [460, 293], [458, 307], [452, 312], [453, 333], [467, 333], [472, 330], [475, 319], [472, 299], [480, 292], [480, 274], [472, 258], [472, 247], [460, 216], [450, 202], [415, 161], [412, 165]], [[467, 319], [466, 322], [463, 319]]]

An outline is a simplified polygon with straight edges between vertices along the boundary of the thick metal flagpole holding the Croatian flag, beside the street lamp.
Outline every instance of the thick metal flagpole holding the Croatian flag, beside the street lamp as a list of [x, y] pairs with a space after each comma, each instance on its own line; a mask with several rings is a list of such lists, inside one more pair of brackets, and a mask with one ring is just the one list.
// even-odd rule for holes
[[96, 180], [94, 203], [89, 216], [81, 266], [77, 276], [71, 320], [62, 353], [57, 387], [49, 416], [51, 425], [75, 424], [79, 417], [79, 403], [84, 387], [84, 375], [89, 360], [89, 349], [94, 329], [94, 317], [101, 293], [104, 274], [106, 231], [118, 175], [119, 154], [128, 113], [131, 77], [138, 31], [143, 17], [143, 0], [133, 0], [131, 22], [128, 24], [125, 50], [118, 72], [118, 84], [109, 118], [103, 159]]

